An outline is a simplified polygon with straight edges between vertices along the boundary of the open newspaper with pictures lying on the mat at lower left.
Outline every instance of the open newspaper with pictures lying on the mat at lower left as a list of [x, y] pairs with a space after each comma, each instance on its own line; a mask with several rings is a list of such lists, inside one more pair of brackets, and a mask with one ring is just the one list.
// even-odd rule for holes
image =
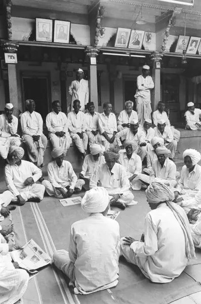
[[23, 246], [23, 249], [10, 252], [14, 262], [18, 262], [19, 267], [33, 275], [37, 269], [42, 268], [52, 262], [50, 256], [39, 247], [32, 239]]

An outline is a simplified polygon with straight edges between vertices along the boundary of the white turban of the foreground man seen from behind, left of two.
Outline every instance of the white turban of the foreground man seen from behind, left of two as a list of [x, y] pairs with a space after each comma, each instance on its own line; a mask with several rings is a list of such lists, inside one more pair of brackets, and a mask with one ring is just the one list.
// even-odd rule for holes
[[109, 204], [109, 195], [104, 187], [95, 187], [86, 192], [81, 208], [88, 213], [101, 213]]

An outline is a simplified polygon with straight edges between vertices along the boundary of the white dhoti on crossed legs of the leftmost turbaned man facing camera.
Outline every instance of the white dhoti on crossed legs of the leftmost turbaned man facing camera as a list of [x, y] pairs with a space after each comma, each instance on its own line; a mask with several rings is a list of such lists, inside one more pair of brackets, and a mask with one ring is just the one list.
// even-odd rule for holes
[[[32, 198], [39, 198], [43, 200], [45, 192], [45, 186], [41, 184], [34, 183], [29, 186], [28, 191], [20, 192], [21, 197], [27, 202]], [[12, 193], [12, 202], [17, 202], [18, 198]]]

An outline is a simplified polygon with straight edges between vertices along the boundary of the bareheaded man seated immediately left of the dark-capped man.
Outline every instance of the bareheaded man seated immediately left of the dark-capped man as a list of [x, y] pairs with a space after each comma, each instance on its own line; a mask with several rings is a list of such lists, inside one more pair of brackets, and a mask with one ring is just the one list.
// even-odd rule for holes
[[89, 138], [89, 145], [92, 145], [94, 143], [101, 144], [101, 135], [99, 134], [98, 130], [99, 113], [94, 111], [95, 106], [93, 102], [88, 102], [87, 108], [89, 112], [86, 113], [85, 116], [87, 122], [86, 133]]

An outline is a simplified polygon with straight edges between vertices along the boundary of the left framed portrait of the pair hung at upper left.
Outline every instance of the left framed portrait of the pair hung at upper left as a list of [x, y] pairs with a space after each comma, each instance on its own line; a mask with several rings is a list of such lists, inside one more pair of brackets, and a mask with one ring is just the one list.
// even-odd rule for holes
[[35, 18], [36, 41], [52, 42], [52, 28], [51, 19]]

